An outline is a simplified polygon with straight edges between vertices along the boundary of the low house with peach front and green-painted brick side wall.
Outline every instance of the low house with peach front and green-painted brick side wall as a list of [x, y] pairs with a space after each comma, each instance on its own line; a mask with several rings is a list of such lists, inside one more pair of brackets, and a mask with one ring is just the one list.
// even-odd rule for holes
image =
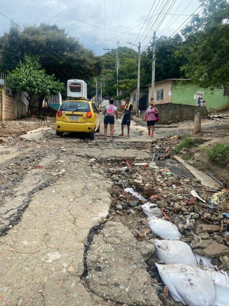
[[[150, 102], [150, 95], [148, 97]], [[206, 101], [210, 111], [229, 109], [228, 90], [223, 88], [212, 93], [210, 88], [201, 88], [189, 79], [167, 79], [154, 85], [154, 104], [176, 103], [197, 106], [198, 97]]]

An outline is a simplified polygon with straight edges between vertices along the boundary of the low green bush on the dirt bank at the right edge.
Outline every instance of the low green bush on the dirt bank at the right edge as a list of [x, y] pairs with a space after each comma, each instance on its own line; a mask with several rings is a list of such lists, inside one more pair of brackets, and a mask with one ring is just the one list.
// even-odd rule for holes
[[205, 147], [205, 152], [213, 162], [220, 165], [226, 165], [229, 162], [229, 143], [227, 142]]

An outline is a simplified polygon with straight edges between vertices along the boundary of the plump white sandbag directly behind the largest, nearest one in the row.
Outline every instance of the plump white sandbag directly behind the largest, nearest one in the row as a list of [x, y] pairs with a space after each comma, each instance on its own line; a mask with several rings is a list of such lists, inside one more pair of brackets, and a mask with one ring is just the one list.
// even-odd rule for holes
[[179, 240], [154, 239], [156, 256], [165, 264], [184, 263], [189, 266], [197, 266], [196, 257], [190, 246]]

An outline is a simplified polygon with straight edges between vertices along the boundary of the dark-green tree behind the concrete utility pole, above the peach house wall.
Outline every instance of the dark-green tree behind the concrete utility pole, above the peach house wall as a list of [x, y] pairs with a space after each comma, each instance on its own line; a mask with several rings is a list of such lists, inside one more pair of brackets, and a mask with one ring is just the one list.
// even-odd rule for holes
[[[156, 68], [155, 81], [165, 79], [180, 79], [184, 77], [184, 72], [180, 67], [187, 62], [185, 55], [176, 57], [176, 51], [180, 50], [183, 40], [180, 35], [173, 38], [161, 36], [156, 41]], [[141, 55], [140, 84], [151, 84], [152, 78], [152, 46], [148, 47]]]

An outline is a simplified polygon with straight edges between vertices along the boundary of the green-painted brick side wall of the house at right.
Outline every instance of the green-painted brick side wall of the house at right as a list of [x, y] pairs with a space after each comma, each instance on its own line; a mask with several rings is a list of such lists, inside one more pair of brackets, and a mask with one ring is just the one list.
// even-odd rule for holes
[[216, 90], [213, 94], [209, 88], [198, 87], [191, 81], [180, 83], [172, 81], [172, 103], [196, 106], [198, 93], [203, 93], [203, 100], [210, 111], [220, 111], [229, 108], [229, 97], [224, 95], [224, 90]]

